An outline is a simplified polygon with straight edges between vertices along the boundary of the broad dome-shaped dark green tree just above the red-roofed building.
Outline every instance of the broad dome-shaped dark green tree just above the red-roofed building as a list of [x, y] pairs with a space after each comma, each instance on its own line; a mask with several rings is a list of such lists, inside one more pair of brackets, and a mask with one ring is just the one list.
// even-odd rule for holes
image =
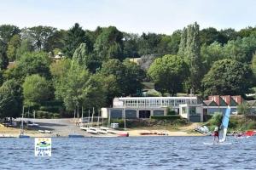
[[252, 87], [252, 71], [248, 65], [236, 60], [218, 60], [202, 84], [208, 95], [244, 95]]

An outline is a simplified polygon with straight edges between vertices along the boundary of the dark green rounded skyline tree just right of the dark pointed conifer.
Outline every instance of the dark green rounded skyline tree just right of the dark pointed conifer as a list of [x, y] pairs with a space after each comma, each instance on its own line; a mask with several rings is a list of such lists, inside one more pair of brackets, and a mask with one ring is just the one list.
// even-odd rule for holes
[[123, 33], [116, 27], [103, 29], [94, 44], [96, 56], [101, 61], [108, 59], [123, 59]]

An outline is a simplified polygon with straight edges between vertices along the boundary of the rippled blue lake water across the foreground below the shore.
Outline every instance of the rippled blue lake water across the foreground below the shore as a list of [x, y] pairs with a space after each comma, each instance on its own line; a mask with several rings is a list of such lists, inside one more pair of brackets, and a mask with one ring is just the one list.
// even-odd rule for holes
[[211, 137], [52, 139], [35, 157], [34, 139], [0, 139], [0, 169], [256, 169], [256, 137], [205, 145]]

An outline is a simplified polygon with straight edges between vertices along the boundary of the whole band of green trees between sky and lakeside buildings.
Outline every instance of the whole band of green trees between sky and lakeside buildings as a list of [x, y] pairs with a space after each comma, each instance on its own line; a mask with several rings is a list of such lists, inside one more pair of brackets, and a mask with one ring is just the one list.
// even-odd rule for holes
[[[195, 23], [172, 35], [137, 35], [114, 26], [2, 25], [0, 116], [19, 116], [22, 105], [62, 116], [97, 110], [114, 97], [141, 95], [145, 81], [157, 95], [243, 95], [253, 88], [255, 49], [255, 27], [200, 31]], [[127, 59], [138, 57], [140, 65]]]

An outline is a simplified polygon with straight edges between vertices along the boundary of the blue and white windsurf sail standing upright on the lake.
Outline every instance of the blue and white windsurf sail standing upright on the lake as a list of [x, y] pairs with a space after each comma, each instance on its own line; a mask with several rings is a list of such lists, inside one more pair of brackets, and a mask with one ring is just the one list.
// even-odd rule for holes
[[230, 106], [228, 106], [222, 118], [222, 123], [221, 123], [220, 131], [218, 134], [219, 142], [224, 142], [226, 140], [229, 122], [230, 122], [230, 111], [231, 111]]

